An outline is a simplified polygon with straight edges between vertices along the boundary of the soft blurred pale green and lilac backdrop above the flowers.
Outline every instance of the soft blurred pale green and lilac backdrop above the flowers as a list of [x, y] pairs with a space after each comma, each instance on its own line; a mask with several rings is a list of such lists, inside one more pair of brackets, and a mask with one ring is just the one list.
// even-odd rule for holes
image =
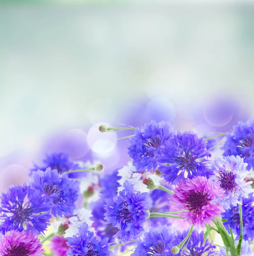
[[123, 166], [128, 134], [100, 122], [203, 136], [253, 118], [253, 24], [243, 2], [1, 3], [0, 192], [46, 153]]

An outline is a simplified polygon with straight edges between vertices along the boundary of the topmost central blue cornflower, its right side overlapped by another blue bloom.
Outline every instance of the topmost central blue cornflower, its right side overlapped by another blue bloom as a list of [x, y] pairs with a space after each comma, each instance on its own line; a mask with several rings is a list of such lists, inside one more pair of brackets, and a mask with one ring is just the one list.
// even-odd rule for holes
[[151, 121], [150, 124], [146, 123], [144, 127], [136, 129], [134, 137], [128, 142], [127, 151], [138, 172], [157, 169], [160, 149], [172, 134], [172, 126], [164, 121]]

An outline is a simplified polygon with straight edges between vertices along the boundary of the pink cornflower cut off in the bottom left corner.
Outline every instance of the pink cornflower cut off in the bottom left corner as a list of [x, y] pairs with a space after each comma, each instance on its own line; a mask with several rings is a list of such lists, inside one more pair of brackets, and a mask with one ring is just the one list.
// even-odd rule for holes
[[0, 240], [0, 255], [6, 256], [42, 256], [44, 252], [40, 239], [30, 232], [11, 230]]

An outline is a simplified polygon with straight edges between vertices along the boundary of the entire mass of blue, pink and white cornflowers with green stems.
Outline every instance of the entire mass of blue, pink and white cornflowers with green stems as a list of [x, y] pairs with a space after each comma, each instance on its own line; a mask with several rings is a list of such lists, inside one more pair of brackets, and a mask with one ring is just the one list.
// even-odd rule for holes
[[129, 128], [122, 168], [56, 152], [2, 193], [0, 256], [254, 256], [254, 121], [210, 137]]

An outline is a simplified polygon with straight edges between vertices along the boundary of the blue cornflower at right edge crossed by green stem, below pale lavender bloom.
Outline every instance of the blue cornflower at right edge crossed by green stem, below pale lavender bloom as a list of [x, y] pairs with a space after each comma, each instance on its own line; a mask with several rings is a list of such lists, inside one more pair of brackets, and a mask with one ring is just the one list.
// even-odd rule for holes
[[[254, 239], [254, 198], [252, 193], [249, 194], [249, 198], [243, 198], [243, 239], [252, 241]], [[227, 221], [224, 222], [225, 228], [229, 231], [229, 227], [233, 230], [233, 233], [237, 234], [237, 239], [240, 236], [240, 215], [238, 206], [232, 206], [226, 212], [222, 213], [222, 218]]]

